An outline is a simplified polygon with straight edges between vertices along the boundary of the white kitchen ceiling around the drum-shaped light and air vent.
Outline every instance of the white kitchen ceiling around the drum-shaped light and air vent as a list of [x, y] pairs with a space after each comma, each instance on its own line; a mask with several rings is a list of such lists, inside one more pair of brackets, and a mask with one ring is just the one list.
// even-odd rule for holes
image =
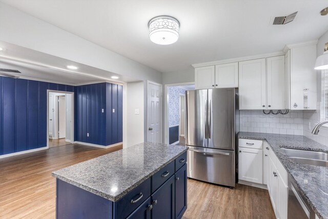
[[[61, 29], [161, 72], [191, 64], [280, 51], [328, 30], [328, 1], [39, 1], [1, 0]], [[270, 24], [298, 11], [294, 22]], [[180, 22], [177, 43], [149, 40], [147, 24], [158, 15]]]

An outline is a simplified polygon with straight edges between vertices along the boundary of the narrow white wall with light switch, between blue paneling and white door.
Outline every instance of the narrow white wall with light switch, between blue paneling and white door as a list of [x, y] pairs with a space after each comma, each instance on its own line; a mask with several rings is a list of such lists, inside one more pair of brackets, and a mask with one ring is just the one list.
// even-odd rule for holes
[[[145, 101], [144, 82], [127, 83], [124, 89], [126, 95], [126, 127], [123, 131], [124, 145], [130, 147], [144, 142], [145, 132]], [[135, 109], [139, 109], [139, 114], [135, 114]]]

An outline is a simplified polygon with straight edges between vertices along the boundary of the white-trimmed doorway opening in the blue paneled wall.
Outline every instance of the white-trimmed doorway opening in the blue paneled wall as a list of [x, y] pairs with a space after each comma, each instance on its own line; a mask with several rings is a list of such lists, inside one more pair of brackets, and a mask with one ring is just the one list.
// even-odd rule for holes
[[48, 91], [48, 147], [73, 143], [73, 93]]

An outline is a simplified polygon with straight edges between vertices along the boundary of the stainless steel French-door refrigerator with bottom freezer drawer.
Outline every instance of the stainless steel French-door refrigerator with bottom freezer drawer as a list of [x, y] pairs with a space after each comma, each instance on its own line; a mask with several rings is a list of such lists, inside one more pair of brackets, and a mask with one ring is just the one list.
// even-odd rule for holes
[[188, 177], [235, 187], [235, 89], [186, 91], [186, 116]]

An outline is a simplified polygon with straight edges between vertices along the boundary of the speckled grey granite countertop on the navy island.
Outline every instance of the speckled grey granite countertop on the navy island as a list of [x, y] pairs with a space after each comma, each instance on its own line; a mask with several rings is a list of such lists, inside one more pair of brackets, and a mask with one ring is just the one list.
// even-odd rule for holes
[[52, 175], [116, 202], [187, 150], [186, 146], [145, 142], [54, 171]]

